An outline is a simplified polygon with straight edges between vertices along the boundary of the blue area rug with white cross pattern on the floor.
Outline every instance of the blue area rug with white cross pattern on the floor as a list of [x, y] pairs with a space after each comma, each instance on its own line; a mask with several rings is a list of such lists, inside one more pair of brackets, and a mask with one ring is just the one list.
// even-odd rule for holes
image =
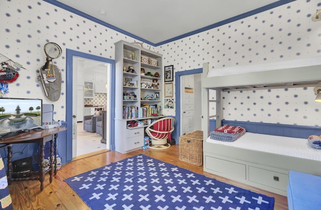
[[92, 209], [273, 209], [274, 198], [145, 155], [65, 179]]

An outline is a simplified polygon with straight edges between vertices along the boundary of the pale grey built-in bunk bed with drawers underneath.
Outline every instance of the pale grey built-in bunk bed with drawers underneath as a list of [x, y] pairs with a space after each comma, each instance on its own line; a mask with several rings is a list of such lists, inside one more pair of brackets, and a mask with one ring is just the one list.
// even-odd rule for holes
[[[290, 170], [321, 175], [321, 150], [310, 148], [307, 144], [308, 136], [321, 135], [320, 126], [225, 121], [222, 119], [220, 100], [223, 91], [233, 89], [321, 86], [319, 60], [297, 60], [266, 65], [264, 68], [251, 66], [244, 68], [245, 73], [229, 75], [213, 74], [211, 71], [215, 70], [209, 71], [208, 64], [204, 64], [204, 171], [282, 195], [286, 195]], [[209, 99], [211, 89], [216, 90], [216, 100]], [[210, 102], [216, 103], [214, 116], [209, 116]], [[211, 122], [214, 122], [212, 126]], [[246, 133], [233, 142], [211, 139], [211, 131], [225, 124], [244, 127]]]

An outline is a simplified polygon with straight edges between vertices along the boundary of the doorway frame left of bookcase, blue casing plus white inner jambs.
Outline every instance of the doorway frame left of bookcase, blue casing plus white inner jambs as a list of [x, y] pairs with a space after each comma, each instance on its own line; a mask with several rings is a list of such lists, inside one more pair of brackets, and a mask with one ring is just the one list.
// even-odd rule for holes
[[[110, 150], [114, 150], [114, 92], [115, 92], [115, 61], [99, 56], [94, 56], [74, 50], [67, 49], [66, 50], [66, 124], [67, 124], [67, 142], [66, 142], [66, 150], [67, 150], [67, 158], [66, 161], [71, 161], [72, 158], [77, 156], [77, 91], [80, 92], [77, 87], [77, 73], [73, 71], [73, 66], [77, 66], [74, 64], [73, 58], [78, 57], [85, 60], [90, 61], [98, 61], [104, 64], [110, 65], [109, 71], [107, 72], [107, 90], [108, 90], [108, 98], [107, 98], [107, 116], [106, 120], [106, 129], [107, 139], [106, 148]], [[108, 106], [109, 104], [109, 106]]]

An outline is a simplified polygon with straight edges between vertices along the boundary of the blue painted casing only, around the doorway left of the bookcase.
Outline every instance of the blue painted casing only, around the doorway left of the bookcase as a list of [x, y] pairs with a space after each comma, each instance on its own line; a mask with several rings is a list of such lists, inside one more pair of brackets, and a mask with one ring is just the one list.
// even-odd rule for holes
[[103, 58], [95, 55], [90, 55], [87, 53], [82, 53], [79, 51], [74, 51], [70, 49], [66, 49], [66, 124], [67, 124], [67, 161], [72, 160], [72, 89], [73, 89], [73, 83], [72, 83], [72, 69], [73, 69], [73, 56], [85, 58], [89, 60], [94, 61], [100, 61], [104, 63], [110, 63], [111, 64], [111, 73], [110, 73], [110, 149], [115, 149], [115, 61]]

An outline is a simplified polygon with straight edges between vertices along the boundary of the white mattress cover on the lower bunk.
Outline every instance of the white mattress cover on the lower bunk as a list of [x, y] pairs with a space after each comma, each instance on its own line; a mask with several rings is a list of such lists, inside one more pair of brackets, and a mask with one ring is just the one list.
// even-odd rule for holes
[[307, 139], [303, 138], [246, 132], [234, 142], [217, 141], [210, 137], [206, 142], [321, 161], [321, 149], [311, 148]]

